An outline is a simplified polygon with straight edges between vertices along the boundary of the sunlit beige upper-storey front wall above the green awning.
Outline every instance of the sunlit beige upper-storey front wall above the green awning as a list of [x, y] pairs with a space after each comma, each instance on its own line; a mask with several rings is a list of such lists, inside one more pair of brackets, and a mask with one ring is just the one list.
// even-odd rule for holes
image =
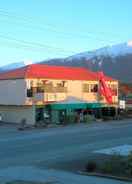
[[[33, 85], [36, 86], [37, 84], [37, 79], [29, 79], [27, 80], [27, 85], [29, 85], [30, 80], [33, 81]], [[44, 79], [40, 79], [40, 80], [44, 80]], [[46, 80], [46, 79], [45, 79]], [[53, 85], [56, 86], [56, 84], [61, 81], [61, 80], [52, 80], [49, 79], [49, 81], [53, 82]], [[63, 101], [65, 100], [67, 97], [76, 97], [80, 100], [85, 100], [88, 102], [98, 102], [100, 100], [100, 102], [102, 103], [106, 103], [105, 98], [99, 98], [98, 93], [93, 93], [93, 92], [83, 92], [83, 84], [98, 84], [98, 81], [72, 81], [72, 80], [67, 80], [66, 81], [66, 87], [67, 87], [67, 92], [66, 93], [44, 93], [42, 96], [42, 100], [38, 101], [38, 104], [43, 104], [44, 101]], [[117, 85], [118, 88], [118, 82], [117, 81], [112, 81], [112, 82], [108, 82], [108, 84], [115, 84]], [[113, 97], [114, 103], [118, 103], [118, 96], [114, 96]], [[33, 98], [33, 101], [37, 104], [37, 98]], [[32, 99], [31, 98], [27, 98], [26, 104], [32, 104]]]

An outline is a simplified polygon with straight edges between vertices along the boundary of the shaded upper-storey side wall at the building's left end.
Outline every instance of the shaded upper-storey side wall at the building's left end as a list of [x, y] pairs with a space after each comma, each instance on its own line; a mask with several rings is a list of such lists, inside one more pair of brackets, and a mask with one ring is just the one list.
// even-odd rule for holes
[[26, 100], [26, 81], [24, 79], [0, 80], [0, 104], [23, 105]]

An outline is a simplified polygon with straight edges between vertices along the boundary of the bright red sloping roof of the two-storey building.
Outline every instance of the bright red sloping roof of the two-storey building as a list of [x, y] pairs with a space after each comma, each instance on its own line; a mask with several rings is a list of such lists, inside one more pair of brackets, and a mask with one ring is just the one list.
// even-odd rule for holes
[[[47, 78], [64, 80], [98, 80], [98, 73], [81, 67], [32, 64], [19, 69], [0, 73], [0, 80], [23, 78]], [[113, 80], [105, 76], [105, 80]]]

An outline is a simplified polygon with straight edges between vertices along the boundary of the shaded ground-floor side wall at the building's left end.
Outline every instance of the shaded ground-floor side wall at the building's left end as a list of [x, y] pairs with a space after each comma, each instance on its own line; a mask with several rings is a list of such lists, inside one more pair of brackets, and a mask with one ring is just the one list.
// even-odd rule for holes
[[35, 123], [35, 111], [31, 106], [0, 106], [2, 120], [8, 123], [20, 123], [26, 118], [27, 124]]

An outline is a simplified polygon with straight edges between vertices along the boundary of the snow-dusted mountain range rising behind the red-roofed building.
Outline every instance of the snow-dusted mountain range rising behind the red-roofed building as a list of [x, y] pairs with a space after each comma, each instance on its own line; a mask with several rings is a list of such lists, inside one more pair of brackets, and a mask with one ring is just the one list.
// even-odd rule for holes
[[[31, 61], [13, 63], [0, 68], [0, 71], [11, 70], [30, 64]], [[86, 67], [93, 71], [104, 71], [105, 74], [122, 82], [132, 83], [132, 41], [113, 46], [79, 53], [67, 58], [49, 59], [41, 64]]]

